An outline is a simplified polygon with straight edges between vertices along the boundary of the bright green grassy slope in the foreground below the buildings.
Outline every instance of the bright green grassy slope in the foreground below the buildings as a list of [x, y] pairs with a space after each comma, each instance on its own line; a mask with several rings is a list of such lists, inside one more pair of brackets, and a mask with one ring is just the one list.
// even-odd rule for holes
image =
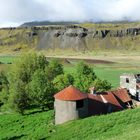
[[30, 115], [0, 115], [2, 140], [139, 140], [140, 109], [126, 110], [53, 124], [53, 111]]

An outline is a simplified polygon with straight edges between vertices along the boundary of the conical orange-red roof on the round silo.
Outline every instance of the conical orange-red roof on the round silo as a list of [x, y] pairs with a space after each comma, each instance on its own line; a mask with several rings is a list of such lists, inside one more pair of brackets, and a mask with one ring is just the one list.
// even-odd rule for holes
[[87, 98], [87, 94], [82, 93], [80, 90], [73, 86], [69, 86], [54, 95], [55, 99], [65, 101], [76, 101]]

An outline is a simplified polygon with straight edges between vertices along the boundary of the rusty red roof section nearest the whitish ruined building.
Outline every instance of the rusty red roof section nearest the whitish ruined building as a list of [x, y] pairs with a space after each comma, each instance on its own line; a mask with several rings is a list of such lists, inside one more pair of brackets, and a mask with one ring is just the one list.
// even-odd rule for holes
[[118, 89], [116, 91], [113, 91], [112, 93], [124, 103], [131, 101], [131, 98], [126, 89]]

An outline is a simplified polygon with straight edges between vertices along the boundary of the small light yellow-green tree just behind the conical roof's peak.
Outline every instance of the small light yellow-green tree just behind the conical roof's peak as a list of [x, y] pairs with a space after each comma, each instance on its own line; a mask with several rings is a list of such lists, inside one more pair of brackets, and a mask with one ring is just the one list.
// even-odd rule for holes
[[61, 74], [54, 79], [53, 83], [57, 91], [60, 91], [69, 85], [73, 85], [74, 78], [70, 74]]

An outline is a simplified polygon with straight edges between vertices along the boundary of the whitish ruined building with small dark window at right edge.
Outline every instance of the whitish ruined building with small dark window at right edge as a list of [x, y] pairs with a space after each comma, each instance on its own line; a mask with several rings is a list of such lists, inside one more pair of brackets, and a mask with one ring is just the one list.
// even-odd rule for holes
[[123, 74], [120, 76], [120, 87], [140, 101], [140, 74]]

